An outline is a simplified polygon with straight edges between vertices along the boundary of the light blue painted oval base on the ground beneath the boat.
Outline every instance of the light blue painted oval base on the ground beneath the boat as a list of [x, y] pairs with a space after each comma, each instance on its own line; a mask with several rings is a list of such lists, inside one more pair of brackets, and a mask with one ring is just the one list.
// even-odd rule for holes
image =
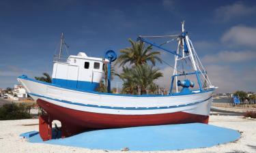
[[207, 148], [240, 138], [240, 133], [210, 124], [190, 123], [140, 126], [124, 129], [87, 131], [64, 139], [42, 141], [40, 135], [29, 138], [31, 143], [51, 143], [98, 150], [185, 150]]

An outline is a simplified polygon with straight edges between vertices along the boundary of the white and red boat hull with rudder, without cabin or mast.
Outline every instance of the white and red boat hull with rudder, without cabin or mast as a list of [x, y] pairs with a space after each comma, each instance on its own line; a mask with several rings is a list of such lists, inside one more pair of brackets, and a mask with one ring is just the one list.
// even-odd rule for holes
[[61, 88], [26, 77], [18, 78], [46, 114], [40, 116], [40, 136], [52, 139], [52, 122], [61, 122], [68, 137], [88, 129], [208, 123], [213, 90], [188, 95], [112, 95]]

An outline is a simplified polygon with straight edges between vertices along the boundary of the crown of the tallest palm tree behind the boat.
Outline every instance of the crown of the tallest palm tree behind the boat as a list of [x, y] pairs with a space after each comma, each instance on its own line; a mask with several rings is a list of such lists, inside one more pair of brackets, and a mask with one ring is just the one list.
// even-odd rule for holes
[[120, 66], [124, 66], [126, 63], [130, 65], [143, 65], [150, 61], [152, 65], [156, 65], [156, 61], [162, 63], [161, 58], [158, 57], [160, 52], [152, 51], [152, 46], [145, 47], [145, 43], [141, 41], [132, 41], [128, 39], [132, 46], [130, 48], [125, 48], [120, 50], [122, 53], [117, 58], [117, 63]]

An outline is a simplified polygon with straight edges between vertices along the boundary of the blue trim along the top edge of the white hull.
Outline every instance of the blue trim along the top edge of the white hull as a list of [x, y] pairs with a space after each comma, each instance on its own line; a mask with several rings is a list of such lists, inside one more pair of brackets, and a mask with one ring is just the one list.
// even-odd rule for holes
[[[28, 78], [27, 75], [20, 75], [18, 78], [20, 79], [24, 79], [24, 80], [29, 80], [29, 81], [32, 81], [32, 82], [38, 82], [40, 84], [46, 84], [48, 86], [56, 86], [56, 87], [59, 87], [59, 88], [63, 88], [57, 84], [51, 84], [51, 83], [48, 83], [48, 82], [41, 82], [39, 80], [34, 80], [34, 79], [31, 79], [31, 78]], [[76, 90], [76, 91], [80, 91], [80, 92], [88, 92], [88, 93], [93, 93], [93, 94], [97, 94], [97, 95], [111, 95], [111, 96], [122, 96], [122, 97], [172, 97], [172, 96], [178, 96], [178, 93], [177, 95], [125, 95], [125, 94], [113, 94], [113, 93], [106, 93], [106, 92], [96, 92], [96, 91], [88, 91], [88, 90], [81, 90], [81, 89], [77, 89], [77, 88], [68, 88], [68, 87], [65, 87], [66, 89], [68, 90]], [[188, 95], [196, 95], [196, 94], [199, 94], [199, 93], [203, 93], [203, 92], [211, 92], [213, 91], [214, 89], [208, 89], [208, 90], [203, 90], [201, 92], [191, 92], [190, 94]], [[183, 94], [180, 94], [180, 95], [183, 95]]]

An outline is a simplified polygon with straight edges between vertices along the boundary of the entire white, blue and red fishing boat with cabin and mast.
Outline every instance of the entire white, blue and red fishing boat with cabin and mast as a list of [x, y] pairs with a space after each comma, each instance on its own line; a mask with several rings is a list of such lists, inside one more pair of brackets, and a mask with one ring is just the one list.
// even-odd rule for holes
[[[63, 44], [61, 36], [61, 44]], [[172, 51], [150, 39], [174, 39], [177, 50]], [[21, 75], [18, 82], [25, 87], [44, 110], [39, 117], [42, 139], [52, 139], [52, 122], [61, 122], [61, 137], [68, 137], [88, 129], [111, 129], [159, 124], [190, 122], [208, 123], [212, 86], [201, 64], [188, 33], [178, 35], [139, 36], [138, 41], [149, 44], [174, 55], [171, 86], [166, 95], [122, 95], [97, 92], [96, 88], [108, 65], [108, 90], [110, 90], [110, 67], [117, 55], [113, 50], [104, 58], [87, 56], [84, 52], [70, 55], [66, 61], [53, 64], [52, 82], [41, 82]], [[165, 42], [168, 43], [169, 41]], [[61, 58], [61, 48], [59, 59]], [[179, 71], [178, 63], [190, 63], [191, 71]], [[188, 76], [195, 76], [195, 82]], [[179, 78], [184, 80], [179, 80]]]

